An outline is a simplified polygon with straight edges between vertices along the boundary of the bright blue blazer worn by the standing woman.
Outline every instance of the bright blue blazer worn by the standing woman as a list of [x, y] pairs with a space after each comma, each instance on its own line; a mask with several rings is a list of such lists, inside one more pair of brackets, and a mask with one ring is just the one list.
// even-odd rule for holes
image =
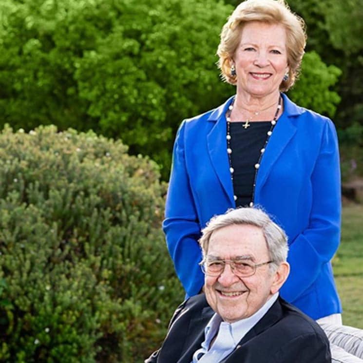
[[[258, 170], [254, 204], [287, 233], [290, 275], [282, 298], [313, 319], [341, 312], [330, 260], [340, 241], [338, 141], [330, 119], [286, 95]], [[226, 110], [184, 120], [176, 135], [163, 230], [187, 295], [204, 284], [201, 229], [235, 207], [226, 143]]]

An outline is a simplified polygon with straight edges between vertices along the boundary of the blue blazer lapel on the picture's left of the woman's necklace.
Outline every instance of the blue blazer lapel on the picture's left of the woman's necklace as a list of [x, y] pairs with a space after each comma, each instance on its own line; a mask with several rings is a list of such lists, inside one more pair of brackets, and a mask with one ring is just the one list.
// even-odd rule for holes
[[208, 118], [208, 122], [213, 122], [214, 126], [207, 135], [207, 146], [211, 164], [218, 179], [225, 191], [231, 206], [235, 206], [233, 199], [233, 185], [229, 172], [229, 160], [227, 154], [227, 124], [226, 111], [231, 104], [233, 97], [230, 97], [223, 105], [216, 108]]

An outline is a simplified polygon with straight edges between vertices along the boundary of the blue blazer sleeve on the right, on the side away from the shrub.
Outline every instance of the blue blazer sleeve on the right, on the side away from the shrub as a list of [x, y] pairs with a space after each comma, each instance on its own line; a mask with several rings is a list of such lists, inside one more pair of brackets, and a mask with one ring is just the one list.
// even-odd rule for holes
[[290, 243], [290, 276], [281, 289], [293, 302], [318, 278], [340, 242], [341, 179], [338, 138], [330, 120], [325, 122], [320, 151], [310, 178], [312, 207], [308, 227]]

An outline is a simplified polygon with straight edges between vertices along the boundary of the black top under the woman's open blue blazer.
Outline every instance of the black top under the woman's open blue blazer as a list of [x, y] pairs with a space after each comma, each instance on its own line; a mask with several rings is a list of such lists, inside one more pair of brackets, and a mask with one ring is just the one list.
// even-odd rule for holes
[[265, 146], [267, 132], [271, 128], [270, 121], [250, 122], [249, 127], [243, 127], [244, 122], [230, 122], [229, 145], [233, 172], [233, 191], [237, 196], [236, 207], [246, 207], [252, 201], [253, 183], [255, 179], [255, 164]]

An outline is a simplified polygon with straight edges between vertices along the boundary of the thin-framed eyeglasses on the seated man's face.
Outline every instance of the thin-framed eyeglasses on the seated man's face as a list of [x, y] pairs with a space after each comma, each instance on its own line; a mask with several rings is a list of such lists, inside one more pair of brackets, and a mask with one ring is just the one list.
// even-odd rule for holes
[[203, 273], [208, 276], [219, 276], [223, 271], [226, 264], [229, 264], [233, 273], [238, 277], [249, 277], [254, 275], [257, 267], [267, 264], [272, 264], [275, 261], [267, 261], [262, 264], [252, 264], [246, 260], [203, 260], [199, 263]]

